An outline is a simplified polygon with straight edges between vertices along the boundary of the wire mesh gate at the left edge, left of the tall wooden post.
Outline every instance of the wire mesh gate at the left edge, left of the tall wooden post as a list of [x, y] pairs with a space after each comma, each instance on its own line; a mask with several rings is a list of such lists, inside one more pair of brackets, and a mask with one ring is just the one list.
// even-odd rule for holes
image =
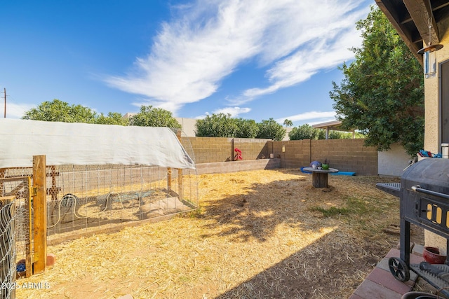
[[[1, 172], [5, 177], [6, 172]], [[17, 175], [17, 174], [15, 174]], [[0, 298], [15, 298], [15, 278], [32, 274], [29, 176], [0, 179]]]

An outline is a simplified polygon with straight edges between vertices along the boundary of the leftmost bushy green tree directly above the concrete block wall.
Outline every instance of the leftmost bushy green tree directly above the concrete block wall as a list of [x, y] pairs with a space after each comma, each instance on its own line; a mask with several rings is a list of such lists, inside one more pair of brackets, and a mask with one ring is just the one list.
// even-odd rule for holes
[[231, 114], [218, 113], [196, 120], [197, 137], [236, 137], [239, 130], [237, 121]]

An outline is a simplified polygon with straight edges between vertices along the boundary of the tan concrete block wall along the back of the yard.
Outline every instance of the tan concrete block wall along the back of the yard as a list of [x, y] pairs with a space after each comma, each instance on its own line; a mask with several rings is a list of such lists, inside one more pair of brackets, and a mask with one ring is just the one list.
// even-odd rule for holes
[[[340, 169], [342, 172], [377, 175], [378, 170], [377, 149], [363, 146], [363, 139], [272, 141], [271, 139], [189, 137], [189, 142], [201, 173], [206, 172], [207, 168], [211, 171], [214, 169], [213, 172], [226, 172], [223, 170], [227, 167], [226, 163], [210, 164], [206, 169], [201, 167], [201, 164], [232, 162], [235, 155], [234, 148], [242, 151], [244, 161], [268, 159], [270, 154], [276, 158], [276, 162], [269, 164], [268, 162], [241, 163], [239, 167], [244, 169], [240, 170], [250, 170], [247, 169], [248, 167], [274, 168], [278, 165], [282, 168], [299, 168], [308, 166], [311, 161], [323, 162], [325, 159], [328, 160], [330, 167]], [[240, 171], [239, 167], [233, 165], [232, 169]]]

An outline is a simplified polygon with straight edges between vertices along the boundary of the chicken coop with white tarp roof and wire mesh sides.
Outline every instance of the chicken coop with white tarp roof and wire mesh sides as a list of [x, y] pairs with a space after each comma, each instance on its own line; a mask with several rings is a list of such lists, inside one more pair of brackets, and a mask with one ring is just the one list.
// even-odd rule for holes
[[20, 274], [15, 265], [26, 275], [44, 269], [47, 242], [199, 206], [194, 153], [180, 131], [5, 118], [0, 137], [2, 283]]

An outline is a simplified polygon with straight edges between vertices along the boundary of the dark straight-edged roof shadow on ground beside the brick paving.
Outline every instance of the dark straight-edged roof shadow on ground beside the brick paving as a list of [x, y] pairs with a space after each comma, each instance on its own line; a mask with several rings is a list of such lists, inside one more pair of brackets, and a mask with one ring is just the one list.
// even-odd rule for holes
[[330, 232], [215, 298], [349, 298], [383, 254], [378, 244]]

